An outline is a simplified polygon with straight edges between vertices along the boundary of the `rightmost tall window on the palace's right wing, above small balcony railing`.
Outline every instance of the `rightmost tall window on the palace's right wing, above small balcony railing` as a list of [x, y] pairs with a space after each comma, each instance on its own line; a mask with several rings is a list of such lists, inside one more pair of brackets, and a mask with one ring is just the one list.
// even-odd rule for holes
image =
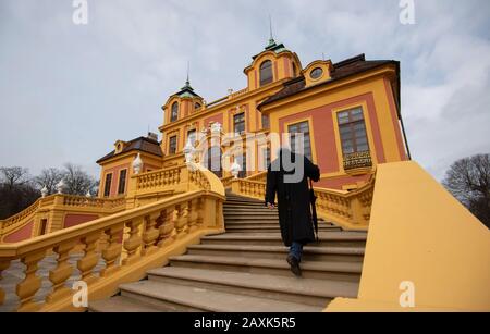
[[336, 117], [344, 156], [369, 151], [363, 109], [342, 111], [336, 114]]

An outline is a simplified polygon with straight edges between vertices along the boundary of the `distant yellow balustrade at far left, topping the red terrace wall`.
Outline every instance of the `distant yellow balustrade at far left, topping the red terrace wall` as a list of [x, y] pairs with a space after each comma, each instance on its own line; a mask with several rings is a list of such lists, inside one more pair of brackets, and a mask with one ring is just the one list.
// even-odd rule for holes
[[[98, 213], [98, 214], [111, 214], [125, 209], [125, 199], [100, 199], [100, 198], [87, 198], [84, 196], [54, 194], [36, 200], [30, 207], [24, 209], [20, 213], [0, 221], [0, 240], [2, 236], [16, 231], [25, 224], [38, 221], [38, 215], [53, 217], [56, 212], [58, 217], [61, 217], [70, 212], [85, 212], [85, 213]], [[57, 222], [53, 225], [60, 225], [61, 222]]]

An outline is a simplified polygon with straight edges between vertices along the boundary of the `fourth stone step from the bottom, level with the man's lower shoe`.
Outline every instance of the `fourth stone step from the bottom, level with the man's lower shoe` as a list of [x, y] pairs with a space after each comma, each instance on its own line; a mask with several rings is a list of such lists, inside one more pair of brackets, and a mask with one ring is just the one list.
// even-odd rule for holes
[[[170, 265], [282, 276], [293, 275], [290, 271], [290, 265], [284, 259], [184, 255], [171, 257]], [[302, 262], [303, 276], [306, 279], [358, 282], [360, 280], [362, 268], [363, 264], [357, 262]]]

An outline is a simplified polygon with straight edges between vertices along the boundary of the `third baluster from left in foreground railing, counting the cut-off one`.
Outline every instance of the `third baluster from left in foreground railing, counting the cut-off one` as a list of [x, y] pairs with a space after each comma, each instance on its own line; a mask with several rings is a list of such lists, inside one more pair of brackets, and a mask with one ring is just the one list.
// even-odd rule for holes
[[54, 252], [58, 253], [58, 265], [49, 272], [49, 280], [52, 282], [53, 289], [46, 298], [47, 302], [57, 301], [71, 293], [70, 288], [64, 286], [64, 283], [73, 273], [73, 267], [68, 260], [70, 259], [70, 251], [75, 245], [76, 240], [70, 240], [54, 247]]

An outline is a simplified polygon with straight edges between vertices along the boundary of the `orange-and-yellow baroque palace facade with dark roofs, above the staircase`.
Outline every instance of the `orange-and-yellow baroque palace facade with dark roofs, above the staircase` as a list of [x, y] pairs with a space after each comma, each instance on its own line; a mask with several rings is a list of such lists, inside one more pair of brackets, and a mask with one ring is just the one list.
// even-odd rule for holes
[[[321, 171], [318, 186], [346, 190], [365, 184], [379, 163], [409, 159], [397, 61], [369, 61], [360, 54], [303, 66], [295, 52], [271, 39], [244, 74], [244, 89], [210, 103], [187, 79], [162, 107], [161, 143], [155, 135], [118, 140], [114, 150], [98, 161], [99, 196], [124, 196], [137, 152], [143, 171], [155, 171], [182, 163], [188, 141], [195, 147], [207, 141], [200, 160], [217, 166], [212, 170], [218, 176], [230, 176], [226, 166], [236, 161], [240, 177], [247, 177], [265, 171], [274, 158], [269, 134], [302, 133], [305, 154]], [[215, 144], [213, 134], [220, 137]], [[238, 154], [229, 152], [226, 134], [243, 143]]]

